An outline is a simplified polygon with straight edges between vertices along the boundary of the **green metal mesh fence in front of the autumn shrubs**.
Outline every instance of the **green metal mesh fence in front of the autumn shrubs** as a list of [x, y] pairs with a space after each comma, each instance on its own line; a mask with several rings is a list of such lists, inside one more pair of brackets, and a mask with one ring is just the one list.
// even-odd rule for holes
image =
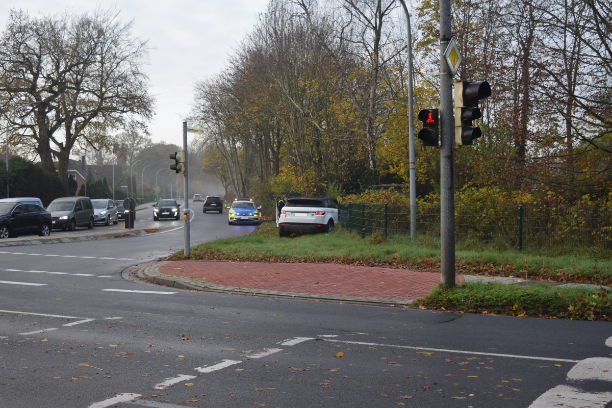
[[[343, 228], [362, 236], [410, 234], [410, 207], [389, 204], [338, 204]], [[440, 234], [440, 206], [417, 206], [419, 235]], [[595, 247], [612, 249], [612, 209], [581, 207], [455, 206], [455, 237], [498, 240], [509, 247]]]

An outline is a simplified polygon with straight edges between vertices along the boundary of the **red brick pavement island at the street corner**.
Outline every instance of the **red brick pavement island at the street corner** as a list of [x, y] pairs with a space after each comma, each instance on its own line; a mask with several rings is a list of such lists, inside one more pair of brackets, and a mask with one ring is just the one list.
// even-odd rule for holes
[[440, 283], [439, 273], [337, 264], [173, 261], [159, 272], [255, 291], [391, 300], [419, 299]]

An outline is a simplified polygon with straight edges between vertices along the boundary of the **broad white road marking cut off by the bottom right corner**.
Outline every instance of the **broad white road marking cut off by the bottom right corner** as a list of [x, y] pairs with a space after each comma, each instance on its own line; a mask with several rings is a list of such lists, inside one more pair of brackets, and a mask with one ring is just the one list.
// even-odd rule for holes
[[569, 385], [557, 385], [539, 396], [528, 408], [580, 407], [603, 408], [612, 401], [612, 393], [585, 393]]

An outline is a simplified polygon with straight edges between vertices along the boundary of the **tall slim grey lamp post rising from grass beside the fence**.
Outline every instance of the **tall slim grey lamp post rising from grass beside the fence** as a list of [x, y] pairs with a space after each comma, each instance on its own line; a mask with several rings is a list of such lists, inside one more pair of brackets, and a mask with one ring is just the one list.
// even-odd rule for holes
[[407, 38], [406, 51], [408, 51], [408, 143], [409, 143], [409, 181], [410, 181], [410, 238], [417, 237], [417, 183], [414, 154], [414, 103], [412, 100], [412, 31], [410, 29], [410, 14], [404, 0], [400, 0], [401, 7], [406, 15]]

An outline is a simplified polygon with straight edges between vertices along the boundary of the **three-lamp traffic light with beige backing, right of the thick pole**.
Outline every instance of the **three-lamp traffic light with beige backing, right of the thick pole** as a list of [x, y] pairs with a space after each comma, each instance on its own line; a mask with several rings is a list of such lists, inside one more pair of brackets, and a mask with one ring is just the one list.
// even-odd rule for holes
[[472, 121], [482, 117], [478, 102], [491, 96], [491, 86], [487, 81], [461, 81], [454, 86], [455, 144], [472, 144], [474, 139], [482, 136], [480, 128], [472, 126]]

